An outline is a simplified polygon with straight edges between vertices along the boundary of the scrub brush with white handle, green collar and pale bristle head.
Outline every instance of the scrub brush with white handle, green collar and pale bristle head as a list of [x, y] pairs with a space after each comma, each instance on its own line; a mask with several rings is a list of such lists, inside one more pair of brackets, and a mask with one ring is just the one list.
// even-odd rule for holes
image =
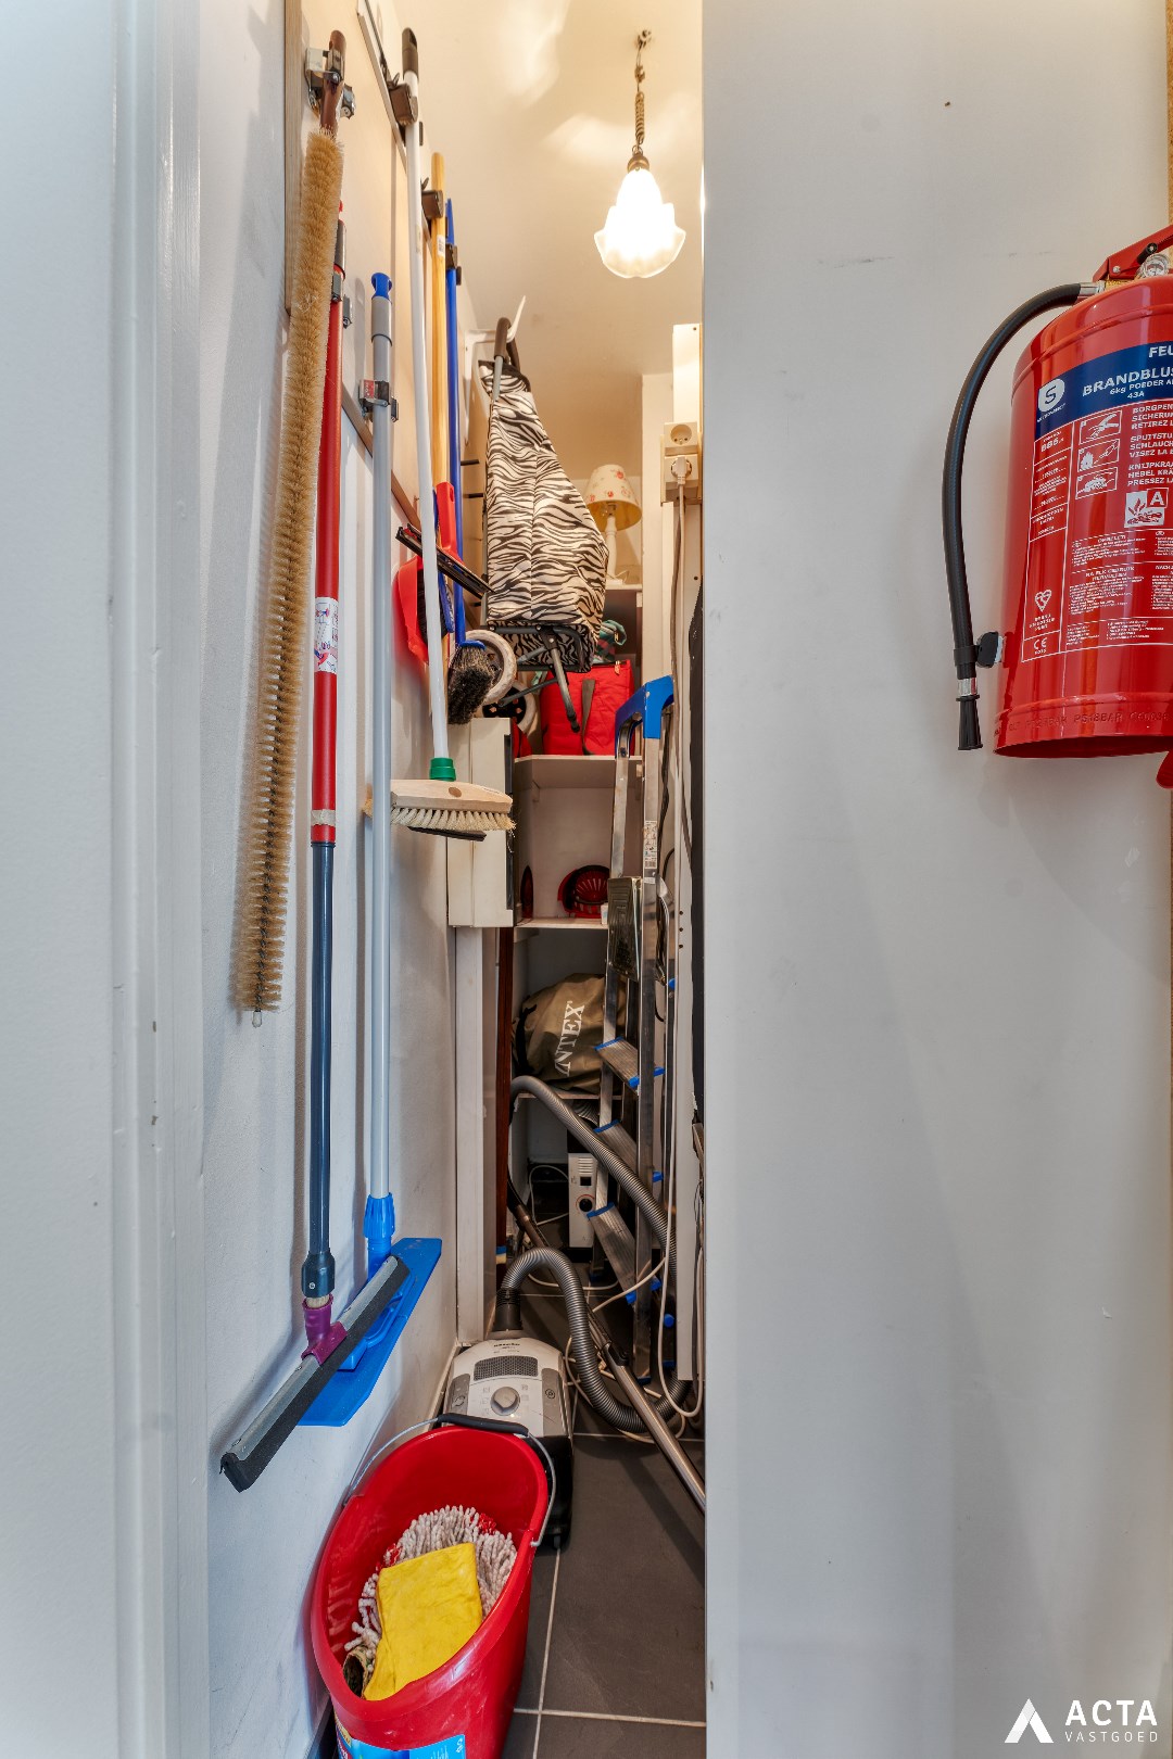
[[[415, 32], [403, 33], [403, 81], [417, 106], [419, 53]], [[419, 114], [419, 113], [417, 113]], [[443, 631], [440, 628], [440, 570], [436, 566], [436, 522], [427, 514], [433, 508], [431, 420], [427, 405], [427, 345], [424, 338], [424, 239], [420, 199], [420, 130], [419, 121], [406, 127], [408, 192], [413, 211], [408, 216], [412, 243], [412, 373], [415, 389], [415, 456], [419, 461], [420, 540], [424, 551], [424, 610], [427, 619], [427, 695], [431, 704], [433, 760], [426, 781], [392, 781], [390, 820], [410, 830], [426, 830], [440, 837], [463, 837], [480, 843], [489, 830], [512, 830], [512, 800], [496, 788], [457, 783], [455, 763], [448, 756], [448, 702], [443, 663]]]

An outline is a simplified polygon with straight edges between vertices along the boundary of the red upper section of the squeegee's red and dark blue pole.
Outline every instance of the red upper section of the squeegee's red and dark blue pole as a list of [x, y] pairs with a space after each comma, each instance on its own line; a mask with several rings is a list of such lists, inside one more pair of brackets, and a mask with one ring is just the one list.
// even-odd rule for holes
[[332, 843], [338, 772], [338, 503], [343, 445], [343, 223], [338, 222], [334, 299], [325, 345], [318, 445], [318, 522], [313, 575], [313, 783], [310, 841]]

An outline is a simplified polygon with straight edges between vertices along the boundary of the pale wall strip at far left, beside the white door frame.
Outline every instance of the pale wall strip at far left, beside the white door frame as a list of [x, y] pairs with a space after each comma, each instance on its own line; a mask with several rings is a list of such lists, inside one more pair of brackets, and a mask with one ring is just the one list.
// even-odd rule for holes
[[[33, 14], [7, 21], [9, 49], [33, 67], [56, 53]], [[109, 431], [114, 389], [114, 167], [111, 90], [83, 69], [111, 67], [109, 7], [72, 21], [77, 77], [62, 81], [53, 157], [32, 148], [44, 106], [16, 93], [16, 165], [4, 179], [5, 236], [25, 274], [5, 276], [0, 440], [5, 598], [14, 637], [0, 709], [5, 751], [4, 1226], [7, 1302], [21, 1342], [4, 1367], [4, 1745], [118, 1747], [116, 1442], [113, 1412], [113, 695], [109, 653]], [[44, 93], [42, 93], [44, 97]], [[56, 104], [55, 104], [56, 109]], [[93, 142], [107, 151], [93, 158]], [[58, 157], [60, 155], [60, 157]], [[53, 164], [88, 164], [58, 185]], [[32, 264], [35, 262], [35, 271]], [[77, 266], [84, 336], [77, 347]], [[33, 292], [35, 288], [35, 292]], [[74, 336], [62, 355], [63, 338]], [[67, 399], [46, 380], [67, 373]], [[69, 477], [53, 468], [62, 427]], [[56, 1291], [53, 1296], [49, 1291]], [[40, 1312], [37, 1321], [33, 1316]], [[18, 1317], [19, 1316], [19, 1317]], [[65, 1514], [65, 1518], [63, 1518]], [[53, 1690], [28, 1690], [62, 1585], [91, 1585], [95, 1625]], [[56, 1673], [56, 1669], [55, 1669]]]

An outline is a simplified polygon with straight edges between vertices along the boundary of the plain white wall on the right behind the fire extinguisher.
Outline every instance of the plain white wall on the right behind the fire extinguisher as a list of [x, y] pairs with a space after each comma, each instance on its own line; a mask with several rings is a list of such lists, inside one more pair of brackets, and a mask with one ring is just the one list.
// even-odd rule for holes
[[1162, 9], [705, 11], [709, 1752], [1168, 1752], [1169, 804], [953, 749], [939, 538], [980, 343], [1164, 218]]

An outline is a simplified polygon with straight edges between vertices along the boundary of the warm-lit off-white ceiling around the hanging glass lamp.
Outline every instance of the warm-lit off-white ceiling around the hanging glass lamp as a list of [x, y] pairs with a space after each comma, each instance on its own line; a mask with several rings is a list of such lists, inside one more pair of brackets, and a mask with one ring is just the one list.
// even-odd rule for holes
[[[563, 468], [640, 470], [640, 375], [672, 366], [672, 325], [700, 318], [700, 0], [415, 0], [420, 111], [445, 155], [478, 322], [526, 311], [517, 336]], [[649, 281], [600, 262], [635, 135], [688, 237]]]

